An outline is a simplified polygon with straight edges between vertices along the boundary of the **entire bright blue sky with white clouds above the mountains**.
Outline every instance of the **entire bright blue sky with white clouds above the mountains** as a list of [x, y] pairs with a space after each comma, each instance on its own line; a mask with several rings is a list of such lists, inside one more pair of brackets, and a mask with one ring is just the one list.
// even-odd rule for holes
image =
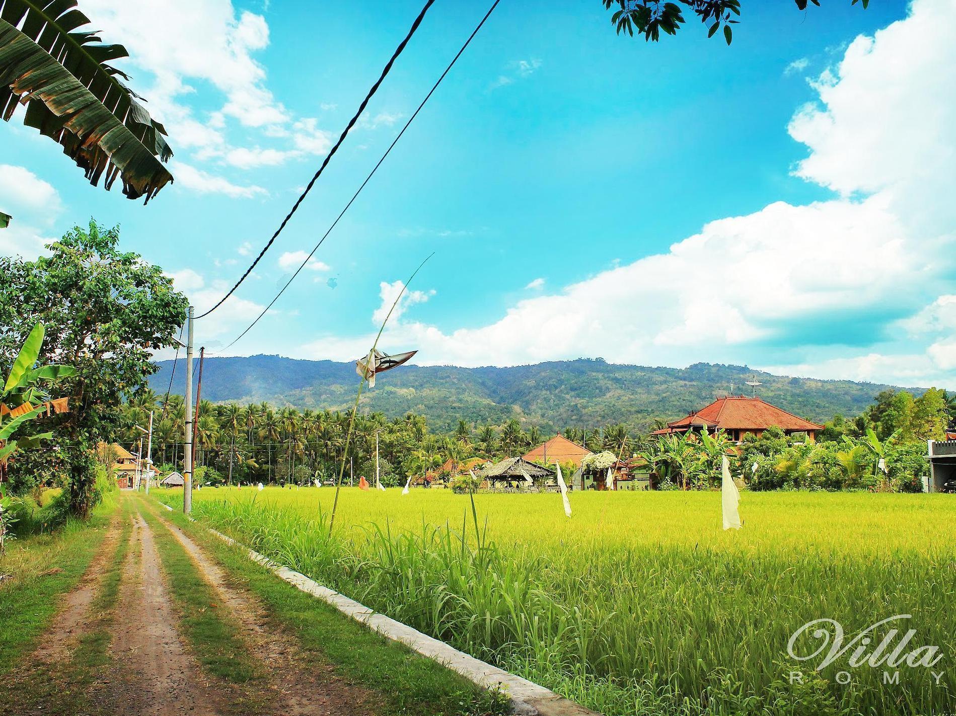
[[[126, 201], [14, 120], [0, 126], [0, 208], [15, 217], [0, 250], [35, 255], [95, 216], [202, 309], [272, 234], [421, 6], [80, 7], [129, 49], [177, 181], [149, 206]], [[210, 349], [268, 303], [486, 10], [429, 11], [237, 299], [198, 323]], [[434, 251], [385, 336], [422, 363], [705, 360], [956, 388], [956, 87], [936, 30], [953, 14], [946, 0], [806, 13], [750, 0], [727, 47], [693, 22], [658, 44], [616, 36], [598, 0], [504, 0], [229, 354], [359, 355], [396, 282]]]

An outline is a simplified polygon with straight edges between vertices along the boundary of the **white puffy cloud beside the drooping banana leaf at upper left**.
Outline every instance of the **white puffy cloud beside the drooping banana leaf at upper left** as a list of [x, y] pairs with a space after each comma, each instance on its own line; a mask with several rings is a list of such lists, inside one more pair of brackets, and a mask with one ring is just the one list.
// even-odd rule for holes
[[[231, 0], [86, 0], [83, 11], [107, 40], [121, 38], [137, 89], [147, 108], [163, 121], [173, 150], [193, 150], [196, 160], [221, 160], [242, 169], [274, 166], [304, 154], [328, 150], [315, 119], [295, 119], [268, 87], [265, 68], [255, 54], [269, 46], [265, 17], [237, 11]], [[186, 18], [184, 20], [184, 18]], [[152, 75], [152, 85], [142, 86]], [[196, 111], [192, 98], [208, 83], [202, 98], [221, 101], [213, 111]], [[265, 148], [229, 141], [231, 125], [244, 128], [244, 141], [284, 139], [288, 146]], [[181, 155], [182, 156], [182, 155]], [[241, 194], [240, 194], [241, 196]]]

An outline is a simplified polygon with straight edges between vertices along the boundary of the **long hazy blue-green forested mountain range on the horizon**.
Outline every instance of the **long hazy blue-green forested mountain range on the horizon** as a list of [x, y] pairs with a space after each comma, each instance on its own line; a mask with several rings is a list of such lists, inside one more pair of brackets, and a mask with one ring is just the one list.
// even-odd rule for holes
[[[173, 361], [158, 363], [150, 386], [165, 394]], [[759, 381], [759, 386], [746, 382]], [[345, 410], [355, 401], [359, 377], [354, 363], [297, 360], [280, 356], [206, 358], [204, 400]], [[405, 365], [382, 374], [362, 393], [363, 411], [389, 418], [424, 415], [432, 429], [445, 431], [459, 420], [501, 424], [517, 418], [544, 431], [567, 426], [624, 423], [641, 430], [655, 418], [674, 420], [715, 397], [750, 395], [796, 415], [824, 422], [836, 413], [858, 415], [880, 390], [896, 388], [852, 380], [774, 376], [747, 366], [695, 363], [687, 368], [623, 365], [601, 358], [578, 358], [514, 367], [460, 368]], [[185, 369], [176, 367], [172, 392], [182, 395]], [[910, 389], [915, 394], [922, 388]]]

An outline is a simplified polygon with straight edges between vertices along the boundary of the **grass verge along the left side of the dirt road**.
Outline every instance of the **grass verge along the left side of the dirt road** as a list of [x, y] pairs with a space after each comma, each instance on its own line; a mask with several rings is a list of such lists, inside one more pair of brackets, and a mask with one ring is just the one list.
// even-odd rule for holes
[[106, 536], [118, 500], [108, 494], [86, 522], [13, 540], [0, 558], [0, 676], [27, 654], [47, 629], [60, 597], [76, 588]]

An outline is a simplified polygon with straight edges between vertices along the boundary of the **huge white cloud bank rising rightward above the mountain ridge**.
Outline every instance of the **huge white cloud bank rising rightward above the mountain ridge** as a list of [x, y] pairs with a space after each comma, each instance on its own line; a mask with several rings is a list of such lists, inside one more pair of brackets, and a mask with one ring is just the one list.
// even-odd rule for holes
[[[956, 359], [951, 332], [917, 344], [874, 330], [860, 350], [839, 347], [852, 340], [831, 326], [849, 329], [860, 315], [899, 315], [901, 308], [915, 313], [914, 288], [938, 292], [949, 306], [956, 76], [940, 68], [956, 65], [948, 30], [954, 23], [951, 0], [916, 0], [910, 17], [873, 38], [858, 37], [815, 83], [819, 102], [798, 110], [789, 127], [810, 150], [796, 173], [834, 189], [836, 198], [777, 202], [710, 222], [666, 253], [522, 300], [489, 325], [445, 331], [393, 320], [389, 344], [420, 348], [423, 363], [460, 365], [585, 355], [752, 364], [755, 350], [773, 345], [777, 355], [795, 358], [780, 361], [781, 370], [952, 386], [956, 377], [945, 373]], [[901, 332], [883, 320], [890, 334]], [[320, 338], [302, 350], [349, 358], [367, 350], [368, 338]]]

